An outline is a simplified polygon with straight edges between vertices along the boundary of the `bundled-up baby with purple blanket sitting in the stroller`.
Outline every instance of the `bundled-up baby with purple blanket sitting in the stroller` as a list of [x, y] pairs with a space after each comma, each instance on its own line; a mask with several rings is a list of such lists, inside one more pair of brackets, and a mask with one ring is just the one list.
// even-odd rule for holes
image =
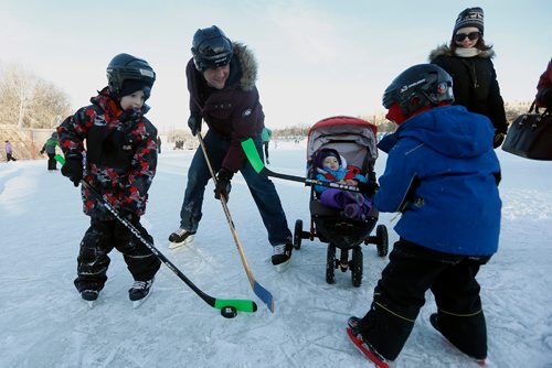
[[[339, 152], [333, 149], [318, 151], [316, 156], [317, 180], [351, 186], [368, 183], [368, 178], [361, 174], [360, 167], [347, 165], [344, 161], [344, 158], [341, 158]], [[358, 192], [321, 185], [316, 185], [315, 191], [325, 206], [341, 210], [341, 214], [347, 218], [365, 220], [372, 208], [370, 199]]]

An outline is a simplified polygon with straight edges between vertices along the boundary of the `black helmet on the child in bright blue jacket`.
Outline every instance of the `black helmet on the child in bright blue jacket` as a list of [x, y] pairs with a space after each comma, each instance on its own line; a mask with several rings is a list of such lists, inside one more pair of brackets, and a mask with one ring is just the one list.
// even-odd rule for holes
[[434, 64], [418, 64], [401, 73], [383, 93], [383, 107], [399, 104], [406, 117], [426, 106], [453, 102], [453, 78]]

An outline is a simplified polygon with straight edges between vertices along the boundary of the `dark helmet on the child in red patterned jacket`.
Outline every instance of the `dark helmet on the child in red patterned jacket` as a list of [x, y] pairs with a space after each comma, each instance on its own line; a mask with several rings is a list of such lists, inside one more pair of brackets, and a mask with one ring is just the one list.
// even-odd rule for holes
[[[119, 96], [125, 80], [134, 79], [151, 88], [156, 82], [156, 72], [148, 62], [129, 54], [118, 54], [107, 65], [109, 91]], [[149, 97], [149, 90], [145, 91]]]

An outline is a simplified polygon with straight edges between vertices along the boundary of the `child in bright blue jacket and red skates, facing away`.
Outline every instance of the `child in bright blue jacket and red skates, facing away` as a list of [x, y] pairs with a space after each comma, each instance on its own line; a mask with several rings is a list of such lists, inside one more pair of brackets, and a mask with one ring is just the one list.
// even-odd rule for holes
[[491, 122], [450, 106], [452, 86], [444, 69], [421, 64], [401, 73], [383, 94], [386, 118], [399, 128], [378, 144], [389, 156], [372, 204], [402, 214], [395, 226], [400, 238], [370, 310], [349, 318], [347, 328], [378, 367], [388, 367], [403, 349], [428, 290], [437, 304], [432, 326], [478, 364], [487, 358], [476, 275], [498, 249], [500, 164]]

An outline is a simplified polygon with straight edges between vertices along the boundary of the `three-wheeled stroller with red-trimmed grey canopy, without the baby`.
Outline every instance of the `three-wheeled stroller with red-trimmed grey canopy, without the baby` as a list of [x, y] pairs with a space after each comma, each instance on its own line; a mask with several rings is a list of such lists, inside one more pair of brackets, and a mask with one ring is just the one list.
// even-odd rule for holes
[[[341, 155], [347, 165], [360, 169], [360, 174], [368, 181], [375, 182], [374, 164], [378, 158], [376, 127], [370, 122], [351, 117], [331, 117], [315, 123], [308, 133], [307, 171], [309, 178], [317, 177], [318, 152], [322, 149], [333, 149]], [[362, 283], [362, 250], [361, 243], [375, 243], [378, 255], [385, 257], [389, 251], [388, 228], [378, 225], [375, 236], [370, 236], [378, 223], [379, 213], [372, 206], [363, 219], [343, 217], [333, 208], [325, 206], [315, 186], [310, 190], [310, 230], [302, 230], [302, 220], [295, 223], [294, 248], [300, 249], [301, 240], [314, 240], [316, 237], [328, 242], [326, 282], [333, 283], [336, 270], [351, 270], [352, 284], [359, 288]], [[340, 250], [339, 258], [336, 256]], [[349, 257], [350, 251], [352, 257]]]

